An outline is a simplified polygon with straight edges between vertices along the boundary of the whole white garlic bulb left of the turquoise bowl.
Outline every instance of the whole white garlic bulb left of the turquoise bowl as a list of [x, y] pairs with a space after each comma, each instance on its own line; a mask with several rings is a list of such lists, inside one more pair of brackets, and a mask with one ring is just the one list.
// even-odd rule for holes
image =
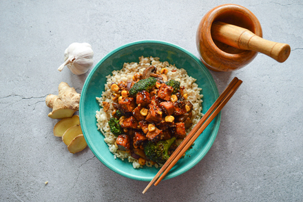
[[60, 65], [58, 70], [61, 72], [65, 65], [74, 74], [85, 74], [94, 63], [94, 52], [89, 43], [72, 43], [64, 52], [65, 62]]

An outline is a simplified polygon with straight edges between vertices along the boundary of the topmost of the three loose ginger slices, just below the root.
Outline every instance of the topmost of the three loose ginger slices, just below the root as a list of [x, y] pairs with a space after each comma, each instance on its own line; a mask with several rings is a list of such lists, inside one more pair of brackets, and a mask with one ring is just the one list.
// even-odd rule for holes
[[54, 136], [62, 137], [64, 132], [74, 125], [80, 125], [78, 115], [74, 115], [71, 118], [62, 119], [61, 121], [56, 123], [56, 125], [54, 125]]

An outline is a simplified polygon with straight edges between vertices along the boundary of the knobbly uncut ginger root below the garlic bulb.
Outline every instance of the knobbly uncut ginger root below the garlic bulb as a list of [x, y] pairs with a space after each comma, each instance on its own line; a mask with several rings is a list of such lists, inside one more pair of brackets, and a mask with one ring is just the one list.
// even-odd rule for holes
[[52, 108], [48, 117], [52, 119], [70, 118], [74, 112], [79, 110], [80, 94], [65, 82], [59, 84], [58, 90], [58, 95], [49, 94], [45, 99], [46, 105]]

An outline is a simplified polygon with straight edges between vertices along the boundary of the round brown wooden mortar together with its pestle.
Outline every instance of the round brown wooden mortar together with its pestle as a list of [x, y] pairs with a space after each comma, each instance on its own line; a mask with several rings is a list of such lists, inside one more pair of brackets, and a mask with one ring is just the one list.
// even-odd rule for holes
[[196, 45], [202, 63], [214, 71], [243, 68], [262, 52], [284, 62], [290, 54], [285, 43], [262, 39], [255, 15], [242, 6], [224, 4], [213, 8], [200, 21]]

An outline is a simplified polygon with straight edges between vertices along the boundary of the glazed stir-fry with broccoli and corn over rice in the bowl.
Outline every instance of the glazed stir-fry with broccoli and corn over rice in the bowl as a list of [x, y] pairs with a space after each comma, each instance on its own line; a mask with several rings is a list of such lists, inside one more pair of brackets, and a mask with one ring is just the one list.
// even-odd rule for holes
[[[109, 131], [103, 128], [103, 132], [114, 135], [108, 144], [115, 157], [127, 156], [135, 164], [134, 168], [163, 165], [201, 114], [195, 111], [193, 117], [194, 104], [189, 99], [189, 90], [181, 85], [180, 79], [169, 78], [169, 71], [176, 71], [176, 67], [157, 68], [151, 62], [137, 70], [132, 79], [125, 80], [119, 75], [120, 81], [107, 82], [107, 97], [97, 98], [103, 109], [97, 112], [96, 118], [107, 114]], [[200, 98], [199, 94], [195, 97], [198, 101], [194, 102], [200, 104]], [[101, 128], [99, 122], [102, 124], [102, 121], [97, 124]]]

